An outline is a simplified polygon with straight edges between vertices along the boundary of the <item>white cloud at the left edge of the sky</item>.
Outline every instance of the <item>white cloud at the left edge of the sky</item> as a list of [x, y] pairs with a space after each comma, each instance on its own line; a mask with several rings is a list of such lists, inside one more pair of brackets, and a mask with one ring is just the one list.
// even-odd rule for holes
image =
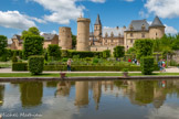
[[0, 11], [0, 25], [4, 28], [13, 29], [28, 29], [30, 26], [35, 26], [34, 21], [27, 18], [27, 15], [21, 14], [19, 11]]

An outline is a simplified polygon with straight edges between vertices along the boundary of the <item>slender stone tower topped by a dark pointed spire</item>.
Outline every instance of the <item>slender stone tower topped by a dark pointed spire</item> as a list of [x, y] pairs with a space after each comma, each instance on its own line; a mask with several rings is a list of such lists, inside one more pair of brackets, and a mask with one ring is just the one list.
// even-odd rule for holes
[[101, 22], [99, 14], [97, 14], [97, 19], [94, 24], [94, 36], [98, 42], [102, 41], [102, 22]]

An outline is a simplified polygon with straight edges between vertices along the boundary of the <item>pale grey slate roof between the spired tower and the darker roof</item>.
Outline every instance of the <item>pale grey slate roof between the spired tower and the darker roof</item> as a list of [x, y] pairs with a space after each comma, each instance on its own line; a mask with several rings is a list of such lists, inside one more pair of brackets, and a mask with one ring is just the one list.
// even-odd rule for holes
[[124, 28], [104, 28], [103, 29], [103, 37], [106, 36], [106, 33], [108, 35], [108, 37], [110, 36], [112, 32], [114, 34], [114, 37], [118, 36], [120, 34], [120, 36], [124, 36]]

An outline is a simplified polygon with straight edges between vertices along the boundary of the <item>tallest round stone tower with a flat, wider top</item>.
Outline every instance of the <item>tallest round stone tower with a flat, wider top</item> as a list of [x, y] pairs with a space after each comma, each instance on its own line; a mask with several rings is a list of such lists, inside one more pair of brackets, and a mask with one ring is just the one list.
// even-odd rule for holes
[[90, 19], [77, 19], [76, 51], [90, 51]]

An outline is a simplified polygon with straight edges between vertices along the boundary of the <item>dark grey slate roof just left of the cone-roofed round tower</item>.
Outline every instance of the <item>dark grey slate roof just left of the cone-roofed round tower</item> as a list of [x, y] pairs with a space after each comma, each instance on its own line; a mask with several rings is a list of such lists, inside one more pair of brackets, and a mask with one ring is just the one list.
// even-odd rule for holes
[[133, 31], [141, 31], [141, 26], [145, 25], [146, 31], [149, 30], [149, 24], [146, 20], [133, 20], [129, 24], [127, 31], [130, 31], [130, 26], [133, 26]]

